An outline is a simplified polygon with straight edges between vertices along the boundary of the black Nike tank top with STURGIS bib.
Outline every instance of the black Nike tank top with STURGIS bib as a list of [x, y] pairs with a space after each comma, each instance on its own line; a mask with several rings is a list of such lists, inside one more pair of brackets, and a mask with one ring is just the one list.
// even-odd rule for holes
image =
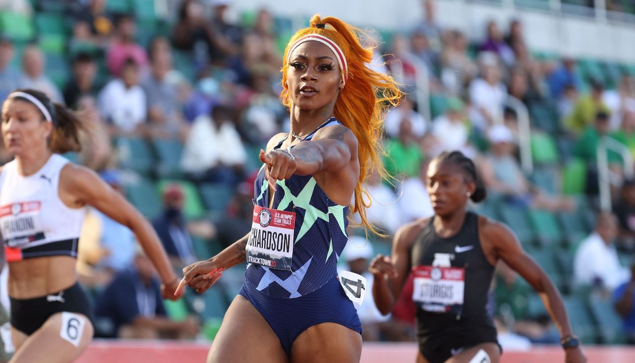
[[419, 343], [435, 335], [479, 330], [493, 332], [495, 341], [487, 311], [494, 267], [481, 249], [479, 216], [467, 212], [459, 232], [449, 238], [436, 234], [433, 221], [415, 239], [411, 254]]

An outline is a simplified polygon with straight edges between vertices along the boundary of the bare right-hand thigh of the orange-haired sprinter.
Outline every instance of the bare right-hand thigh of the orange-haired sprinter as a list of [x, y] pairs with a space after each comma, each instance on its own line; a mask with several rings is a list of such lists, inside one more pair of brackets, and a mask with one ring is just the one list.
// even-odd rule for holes
[[323, 322], [305, 330], [291, 345], [291, 362], [358, 363], [361, 335], [333, 322]]

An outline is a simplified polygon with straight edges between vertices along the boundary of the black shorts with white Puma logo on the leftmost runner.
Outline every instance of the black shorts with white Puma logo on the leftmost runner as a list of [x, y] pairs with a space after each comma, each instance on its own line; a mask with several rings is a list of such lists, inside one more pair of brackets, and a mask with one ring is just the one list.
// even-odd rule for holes
[[11, 326], [24, 334], [36, 332], [53, 314], [61, 312], [83, 314], [93, 320], [88, 296], [79, 284], [57, 294], [32, 299], [11, 298]]

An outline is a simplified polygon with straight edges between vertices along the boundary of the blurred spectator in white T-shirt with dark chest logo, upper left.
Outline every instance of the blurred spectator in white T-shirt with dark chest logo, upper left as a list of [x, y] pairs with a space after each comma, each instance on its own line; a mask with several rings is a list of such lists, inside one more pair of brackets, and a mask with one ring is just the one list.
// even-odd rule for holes
[[139, 67], [133, 58], [124, 62], [121, 77], [108, 82], [100, 92], [99, 110], [118, 133], [131, 133], [145, 123], [146, 96], [139, 86]]

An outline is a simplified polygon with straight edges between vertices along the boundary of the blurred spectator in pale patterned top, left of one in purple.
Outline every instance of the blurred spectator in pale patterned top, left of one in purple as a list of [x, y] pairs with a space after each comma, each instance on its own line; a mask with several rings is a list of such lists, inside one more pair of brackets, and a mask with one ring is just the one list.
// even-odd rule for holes
[[450, 95], [458, 96], [478, 75], [476, 63], [467, 55], [467, 39], [462, 32], [452, 30], [441, 56], [441, 82]]

